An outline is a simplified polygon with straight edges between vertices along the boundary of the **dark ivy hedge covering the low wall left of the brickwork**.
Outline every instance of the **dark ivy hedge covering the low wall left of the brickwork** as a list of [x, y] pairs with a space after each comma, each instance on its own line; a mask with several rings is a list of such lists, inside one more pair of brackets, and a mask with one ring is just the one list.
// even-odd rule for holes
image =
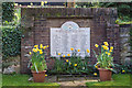
[[20, 26], [2, 26], [3, 59], [20, 54], [21, 36], [22, 32], [20, 31]]

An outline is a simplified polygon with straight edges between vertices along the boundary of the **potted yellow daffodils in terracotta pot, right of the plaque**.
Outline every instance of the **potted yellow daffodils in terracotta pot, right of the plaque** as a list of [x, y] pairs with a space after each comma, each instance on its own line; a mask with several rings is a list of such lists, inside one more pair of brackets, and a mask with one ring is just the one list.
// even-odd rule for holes
[[[112, 66], [113, 65], [113, 46], [109, 46], [108, 42], [103, 42], [105, 45], [101, 45], [101, 51], [97, 55], [94, 51], [97, 63], [95, 64], [96, 68], [99, 70], [100, 81], [111, 80]], [[95, 45], [99, 50], [99, 45]], [[99, 67], [98, 67], [99, 66]]]

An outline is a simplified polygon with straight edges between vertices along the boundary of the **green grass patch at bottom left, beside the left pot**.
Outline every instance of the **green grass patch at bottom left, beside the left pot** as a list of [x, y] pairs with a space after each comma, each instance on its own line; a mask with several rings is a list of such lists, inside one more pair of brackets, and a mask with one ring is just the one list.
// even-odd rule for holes
[[[2, 75], [2, 86], [41, 86], [41, 88], [58, 88], [59, 85], [56, 82], [30, 82], [28, 79], [29, 75]], [[43, 87], [42, 87], [43, 86]], [[7, 88], [7, 87], [6, 87]], [[29, 88], [29, 87], [28, 87]]]

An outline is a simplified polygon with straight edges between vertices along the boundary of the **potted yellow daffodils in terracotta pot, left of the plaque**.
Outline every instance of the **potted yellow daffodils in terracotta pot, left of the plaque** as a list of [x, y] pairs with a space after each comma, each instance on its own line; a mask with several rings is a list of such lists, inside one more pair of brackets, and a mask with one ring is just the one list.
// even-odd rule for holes
[[32, 52], [30, 52], [31, 55], [31, 70], [33, 74], [33, 80], [34, 82], [44, 82], [45, 79], [45, 73], [47, 69], [46, 61], [45, 61], [45, 54], [47, 46], [34, 45]]

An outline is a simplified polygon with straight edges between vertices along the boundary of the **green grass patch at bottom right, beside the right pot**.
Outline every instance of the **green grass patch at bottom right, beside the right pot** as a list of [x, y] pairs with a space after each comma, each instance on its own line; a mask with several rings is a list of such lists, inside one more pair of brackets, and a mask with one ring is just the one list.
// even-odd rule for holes
[[108, 86], [110, 88], [118, 88], [118, 86], [121, 87], [131, 87], [131, 79], [132, 75], [129, 74], [118, 74], [118, 75], [113, 75], [111, 81], [96, 81], [96, 82], [86, 82], [86, 86], [88, 88], [108, 88]]

